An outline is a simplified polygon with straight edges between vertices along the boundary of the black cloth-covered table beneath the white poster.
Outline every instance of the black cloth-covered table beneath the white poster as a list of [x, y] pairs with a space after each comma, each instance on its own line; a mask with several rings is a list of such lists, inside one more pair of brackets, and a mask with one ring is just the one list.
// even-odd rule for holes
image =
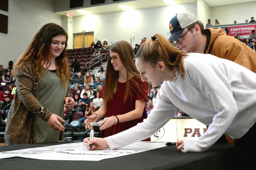
[[[73, 143], [66, 141], [65, 143]], [[1, 146], [0, 152], [27, 148], [44, 147], [64, 144], [35, 143], [12, 146]], [[234, 164], [234, 145], [230, 143], [215, 143], [208, 151], [201, 153], [181, 153], [173, 146], [144, 151], [136, 154], [104, 159], [100, 161], [62, 161], [39, 160], [30, 158], [0, 159], [0, 169], [228, 169]]]

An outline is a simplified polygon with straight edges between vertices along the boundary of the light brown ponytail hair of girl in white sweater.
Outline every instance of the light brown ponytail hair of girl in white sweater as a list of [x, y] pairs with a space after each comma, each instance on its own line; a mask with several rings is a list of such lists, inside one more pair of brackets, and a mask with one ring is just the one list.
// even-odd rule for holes
[[185, 57], [186, 54], [183, 50], [174, 47], [160, 34], [154, 35], [143, 43], [136, 53], [136, 59], [141, 58], [143, 62], [149, 63], [152, 66], [156, 66], [159, 61], [163, 61], [170, 70], [178, 70], [183, 79], [185, 76], [183, 68]]

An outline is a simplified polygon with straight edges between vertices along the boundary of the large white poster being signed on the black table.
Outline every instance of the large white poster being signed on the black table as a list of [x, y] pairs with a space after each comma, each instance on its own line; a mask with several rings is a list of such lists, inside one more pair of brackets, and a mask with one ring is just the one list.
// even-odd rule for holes
[[136, 142], [116, 150], [89, 151], [83, 142], [0, 152], [0, 158], [23, 157], [44, 160], [99, 161], [164, 147], [165, 142]]

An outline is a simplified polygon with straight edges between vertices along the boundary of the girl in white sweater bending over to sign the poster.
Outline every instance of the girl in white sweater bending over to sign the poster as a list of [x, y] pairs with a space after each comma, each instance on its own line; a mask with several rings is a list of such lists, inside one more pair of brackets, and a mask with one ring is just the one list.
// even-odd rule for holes
[[163, 127], [176, 110], [209, 126], [196, 141], [178, 141], [178, 151], [206, 151], [223, 133], [235, 139], [236, 147], [244, 149], [244, 142], [249, 140], [246, 136], [253, 136], [256, 74], [252, 71], [210, 54], [186, 55], [159, 34], [140, 47], [135, 64], [142, 81], [153, 86], [163, 82], [156, 106], [133, 128], [106, 138], [85, 138], [84, 145], [93, 143], [92, 150], [116, 149], [145, 139]]

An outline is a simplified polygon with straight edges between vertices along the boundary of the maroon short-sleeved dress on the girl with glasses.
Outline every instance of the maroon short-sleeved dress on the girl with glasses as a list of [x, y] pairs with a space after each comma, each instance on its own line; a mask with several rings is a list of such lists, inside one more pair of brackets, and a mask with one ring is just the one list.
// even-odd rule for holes
[[[121, 114], [131, 112], [132, 110], [135, 109], [135, 101], [136, 100], [143, 99], [146, 102], [146, 100], [148, 98], [148, 83], [142, 82], [140, 79], [135, 79], [135, 81], [137, 81], [139, 83], [139, 87], [140, 87], [141, 91], [145, 91], [145, 92], [140, 92], [139, 89], [136, 90], [135, 89], [136, 86], [132, 85], [132, 82], [130, 81], [129, 82], [130, 83], [130, 93], [132, 94], [131, 95], [132, 98], [130, 97], [130, 95], [128, 95], [127, 100], [124, 103], [124, 93], [125, 93], [126, 82], [124, 82], [124, 83], [118, 82], [117, 90], [113, 96], [113, 99], [106, 103], [107, 104], [107, 117], [110, 117], [112, 115], [115, 116], [115, 115], [121, 115]], [[135, 89], [136, 92], [133, 89]], [[100, 91], [100, 97], [102, 97], [104, 100], [103, 91], [104, 91], [104, 86], [102, 87], [102, 90]], [[148, 117], [148, 115], [147, 115], [147, 112], [144, 107], [141, 118], [135, 119], [135, 120], [130, 120], [127, 122], [117, 123], [116, 125], [113, 125], [105, 130], [102, 130], [101, 137], [108, 137], [111, 135], [115, 135], [119, 132], [122, 132], [129, 128], [132, 128], [133, 126], [136, 126], [138, 123], [141, 123], [143, 121], [143, 119], [146, 119], [147, 117]], [[150, 138], [147, 138], [143, 141], [150, 141]]]

